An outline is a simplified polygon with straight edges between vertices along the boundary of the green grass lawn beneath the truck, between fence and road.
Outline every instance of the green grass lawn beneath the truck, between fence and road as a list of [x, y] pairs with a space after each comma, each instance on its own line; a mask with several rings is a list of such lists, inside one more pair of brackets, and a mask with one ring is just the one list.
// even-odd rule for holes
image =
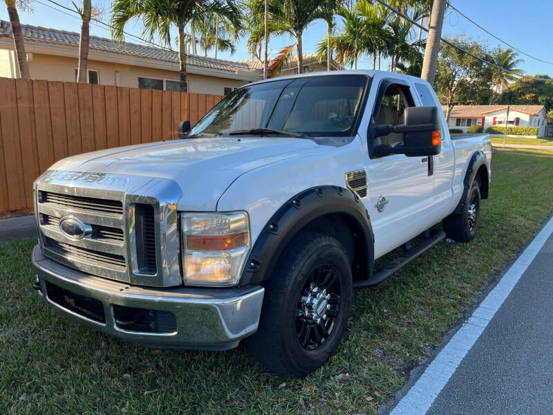
[[336, 356], [302, 380], [263, 369], [243, 345], [153, 350], [71, 322], [31, 288], [35, 239], [0, 243], [0, 414], [375, 414], [547, 219], [552, 186], [552, 153], [494, 154], [476, 239], [356, 291]]

